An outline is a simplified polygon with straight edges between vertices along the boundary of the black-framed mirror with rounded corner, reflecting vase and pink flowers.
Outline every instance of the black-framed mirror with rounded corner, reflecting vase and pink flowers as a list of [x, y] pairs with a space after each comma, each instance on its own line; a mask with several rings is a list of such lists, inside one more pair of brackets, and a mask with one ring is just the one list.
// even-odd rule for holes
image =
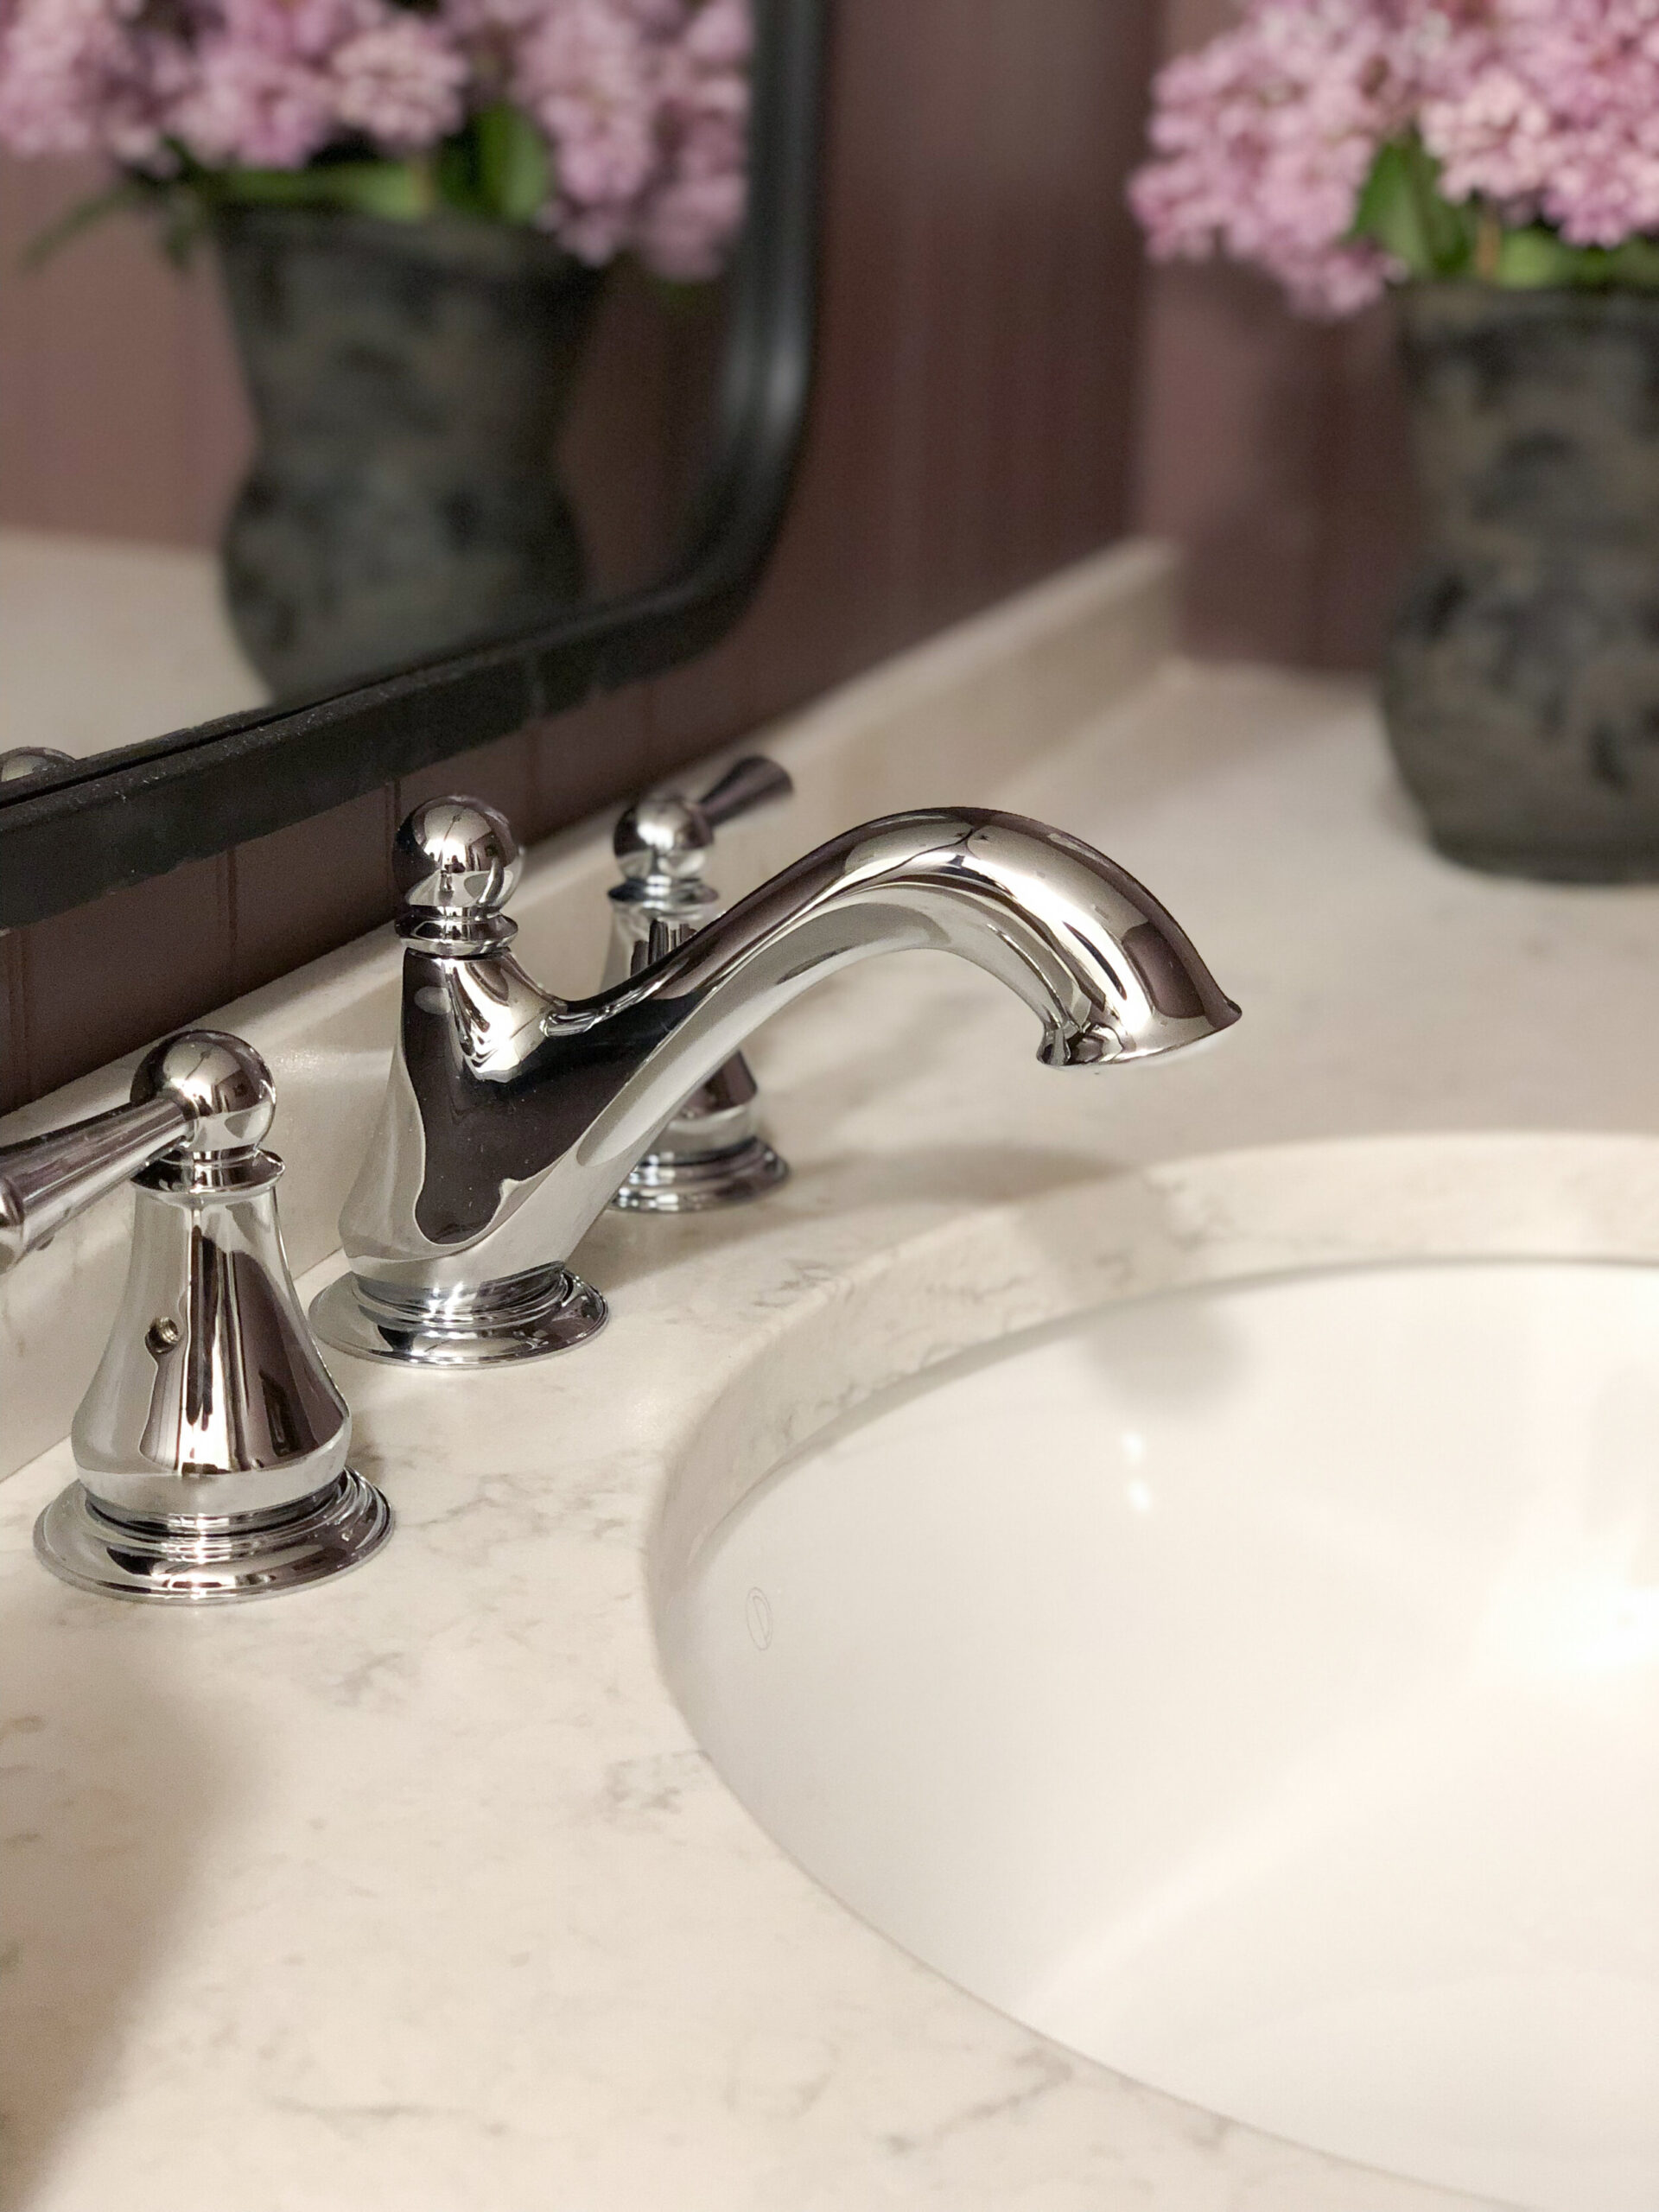
[[60, 18], [0, 33], [0, 927], [712, 641], [810, 361], [816, 0], [356, 0], [281, 84], [192, 31], [161, 122], [179, 55], [86, 91]]

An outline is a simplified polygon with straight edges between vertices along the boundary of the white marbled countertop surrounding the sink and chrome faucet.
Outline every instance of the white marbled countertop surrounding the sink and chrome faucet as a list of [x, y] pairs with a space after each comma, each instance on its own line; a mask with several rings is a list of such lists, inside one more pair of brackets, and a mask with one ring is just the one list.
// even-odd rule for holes
[[1221, 1046], [1055, 1075], [929, 956], [812, 993], [752, 1053], [794, 1181], [608, 1217], [593, 1345], [334, 1363], [398, 1517], [334, 1586], [97, 1601], [29, 1555], [66, 1447], [0, 1489], [7, 2205], [1453, 2203], [1124, 2081], [854, 1920], [697, 1750], [648, 1579], [849, 1396], [1066, 1305], [1458, 1239], [1659, 1256], [1659, 891], [1438, 860], [1343, 684], [1170, 666], [1000, 796], [1166, 900], [1245, 1009]]

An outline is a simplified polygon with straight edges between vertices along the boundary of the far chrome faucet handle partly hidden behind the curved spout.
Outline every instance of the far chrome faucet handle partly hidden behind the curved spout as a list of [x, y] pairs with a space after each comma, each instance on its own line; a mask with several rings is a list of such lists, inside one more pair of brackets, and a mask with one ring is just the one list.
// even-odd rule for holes
[[[611, 889], [606, 989], [661, 960], [719, 914], [719, 891], [703, 876], [714, 832], [792, 796], [787, 770], [750, 754], [701, 799], [648, 792], [628, 807], [611, 841], [622, 883]], [[748, 1060], [732, 1053], [686, 1099], [611, 1203], [628, 1214], [688, 1214], [776, 1190], [790, 1170], [754, 1126], [757, 1097]]]

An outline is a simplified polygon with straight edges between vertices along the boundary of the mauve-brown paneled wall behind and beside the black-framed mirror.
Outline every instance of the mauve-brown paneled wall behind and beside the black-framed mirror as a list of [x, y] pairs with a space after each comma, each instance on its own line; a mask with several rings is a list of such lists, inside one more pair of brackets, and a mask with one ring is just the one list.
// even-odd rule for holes
[[[783, 540], [739, 630], [655, 684], [13, 931], [0, 1104], [372, 927], [392, 907], [392, 827], [418, 796], [473, 790], [542, 836], [1119, 535], [1141, 296], [1124, 177], [1155, 42], [1155, 0], [838, 0], [821, 372]], [[139, 239], [93, 250], [155, 285], [119, 261]], [[161, 314], [157, 296], [135, 312]], [[210, 303], [190, 292], [181, 312], [210, 319]], [[208, 374], [210, 354], [186, 356]], [[706, 334], [659, 343], [653, 405], [706, 358]], [[228, 480], [234, 396], [210, 405]], [[626, 467], [626, 429], [613, 447]], [[179, 491], [175, 513], [177, 535], [201, 535], [212, 498]]]

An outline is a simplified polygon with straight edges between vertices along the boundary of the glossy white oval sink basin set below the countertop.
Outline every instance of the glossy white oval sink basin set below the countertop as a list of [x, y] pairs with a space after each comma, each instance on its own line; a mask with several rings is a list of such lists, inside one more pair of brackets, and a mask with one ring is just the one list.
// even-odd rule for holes
[[1006, 1338], [779, 1467], [659, 1637], [770, 1834], [1033, 2028], [1396, 2174], [1659, 2203], [1659, 1270]]

